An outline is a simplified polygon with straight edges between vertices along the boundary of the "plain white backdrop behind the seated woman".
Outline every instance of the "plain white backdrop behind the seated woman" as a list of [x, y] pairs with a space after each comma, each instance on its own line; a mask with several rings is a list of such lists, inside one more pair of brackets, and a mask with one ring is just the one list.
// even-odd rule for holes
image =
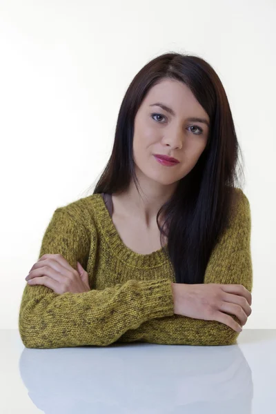
[[252, 220], [244, 329], [276, 328], [275, 19], [274, 0], [0, 0], [0, 328], [18, 328], [52, 213], [92, 194], [130, 81], [169, 51], [206, 59], [226, 90]]

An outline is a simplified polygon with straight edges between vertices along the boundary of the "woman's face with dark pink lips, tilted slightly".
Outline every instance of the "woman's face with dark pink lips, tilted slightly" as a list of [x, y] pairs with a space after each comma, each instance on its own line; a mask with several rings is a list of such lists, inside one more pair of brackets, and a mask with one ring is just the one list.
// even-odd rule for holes
[[[157, 106], [161, 103], [172, 113]], [[146, 95], [135, 117], [133, 156], [139, 175], [169, 185], [185, 177], [204, 151], [209, 126], [190, 117], [210, 119], [190, 89], [180, 81], [164, 79]], [[163, 166], [153, 154], [179, 160], [175, 166]]]

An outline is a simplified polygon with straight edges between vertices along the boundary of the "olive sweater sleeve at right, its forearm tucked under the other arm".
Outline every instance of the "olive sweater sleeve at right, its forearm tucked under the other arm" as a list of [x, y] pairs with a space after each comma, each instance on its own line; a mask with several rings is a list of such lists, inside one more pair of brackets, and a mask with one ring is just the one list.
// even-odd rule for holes
[[[204, 283], [241, 284], [252, 293], [253, 266], [250, 253], [251, 217], [249, 201], [241, 193], [237, 214], [210, 255]], [[229, 314], [239, 322], [236, 315]], [[221, 322], [182, 315], [150, 319], [129, 330], [118, 342], [154, 344], [231, 345], [239, 333]]]

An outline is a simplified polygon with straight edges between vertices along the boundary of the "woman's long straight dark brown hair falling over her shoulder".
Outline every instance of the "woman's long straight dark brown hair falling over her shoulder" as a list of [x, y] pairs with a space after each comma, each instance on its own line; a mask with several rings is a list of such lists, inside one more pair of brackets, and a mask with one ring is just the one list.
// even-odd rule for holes
[[[148, 90], [164, 79], [185, 83], [210, 117], [204, 152], [157, 213], [161, 247], [170, 259], [176, 282], [199, 284], [204, 283], [210, 254], [230, 223], [239, 181], [240, 148], [233, 117], [224, 87], [209, 63], [197, 56], [168, 52], [137, 73], [121, 103], [112, 154], [93, 194], [121, 193], [132, 178], [140, 194], [132, 157], [135, 115]], [[162, 226], [160, 214], [165, 217]], [[162, 235], [168, 239], [165, 247]]]

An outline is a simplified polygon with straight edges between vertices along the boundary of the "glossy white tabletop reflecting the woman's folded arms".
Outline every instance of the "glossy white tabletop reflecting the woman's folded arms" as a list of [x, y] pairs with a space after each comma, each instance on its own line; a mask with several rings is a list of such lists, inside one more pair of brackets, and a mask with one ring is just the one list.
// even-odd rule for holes
[[276, 330], [232, 346], [29, 349], [0, 331], [0, 413], [275, 414]]

